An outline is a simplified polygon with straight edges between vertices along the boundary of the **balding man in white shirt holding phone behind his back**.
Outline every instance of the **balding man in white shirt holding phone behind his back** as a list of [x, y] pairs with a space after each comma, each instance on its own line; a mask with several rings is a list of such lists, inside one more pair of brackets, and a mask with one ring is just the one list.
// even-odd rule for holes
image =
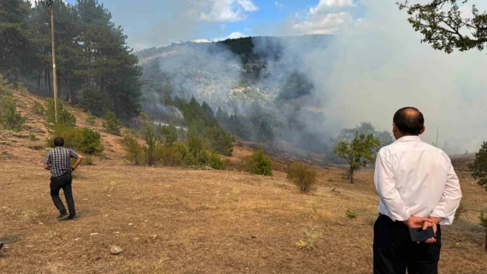
[[[396, 142], [378, 152], [374, 274], [438, 272], [440, 225], [451, 225], [462, 192], [448, 156], [421, 141], [425, 129], [418, 109], [400, 109], [393, 117]], [[413, 242], [409, 228], [420, 227], [433, 227], [435, 238]]]

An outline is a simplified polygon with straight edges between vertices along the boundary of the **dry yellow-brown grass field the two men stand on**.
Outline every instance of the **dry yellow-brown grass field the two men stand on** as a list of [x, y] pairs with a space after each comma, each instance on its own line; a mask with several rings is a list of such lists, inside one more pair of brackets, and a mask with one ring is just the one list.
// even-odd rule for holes
[[[320, 168], [316, 191], [300, 194], [279, 171], [127, 165], [116, 139], [104, 136], [110, 159], [81, 167], [74, 181], [80, 218], [58, 222], [45, 152], [1, 134], [10, 141], [0, 144], [8, 152], [0, 158], [0, 273], [371, 273], [378, 197], [369, 170], [351, 185], [344, 170]], [[229, 160], [249, 154], [236, 147]], [[459, 177], [467, 211], [444, 227], [440, 270], [487, 273], [478, 225], [487, 192], [468, 173]], [[300, 249], [301, 240], [314, 248]], [[112, 245], [124, 251], [111, 255]]]

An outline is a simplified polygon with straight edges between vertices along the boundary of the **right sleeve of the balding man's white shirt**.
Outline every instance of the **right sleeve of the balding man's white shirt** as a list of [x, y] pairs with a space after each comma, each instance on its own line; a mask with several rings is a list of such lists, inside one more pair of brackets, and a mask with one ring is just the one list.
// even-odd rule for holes
[[443, 190], [442, 198], [438, 202], [433, 212], [431, 212], [431, 217], [444, 218], [440, 225], [451, 225], [453, 219], [455, 218], [455, 212], [460, 205], [460, 200], [462, 199], [462, 190], [460, 190], [460, 182], [458, 180], [455, 170], [453, 170], [453, 165], [448, 159], [450, 168], [448, 170], [448, 179]]

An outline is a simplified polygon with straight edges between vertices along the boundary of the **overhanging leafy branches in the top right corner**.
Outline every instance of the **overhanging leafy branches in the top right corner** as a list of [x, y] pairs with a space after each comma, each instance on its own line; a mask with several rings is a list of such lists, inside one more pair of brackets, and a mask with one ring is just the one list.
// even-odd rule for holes
[[483, 50], [487, 43], [487, 12], [472, 6], [471, 15], [462, 14], [468, 0], [433, 0], [424, 4], [400, 2], [400, 10], [407, 10], [408, 21], [416, 32], [423, 34], [422, 43], [451, 54], [455, 49], [465, 52]]

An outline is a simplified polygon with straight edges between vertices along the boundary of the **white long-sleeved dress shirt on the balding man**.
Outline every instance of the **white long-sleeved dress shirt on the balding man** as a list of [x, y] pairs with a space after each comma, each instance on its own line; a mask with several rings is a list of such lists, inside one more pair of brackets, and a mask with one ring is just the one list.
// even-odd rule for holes
[[450, 158], [418, 136], [402, 137], [379, 150], [374, 183], [379, 212], [393, 221], [431, 216], [444, 218], [440, 225], [451, 225], [462, 198]]

